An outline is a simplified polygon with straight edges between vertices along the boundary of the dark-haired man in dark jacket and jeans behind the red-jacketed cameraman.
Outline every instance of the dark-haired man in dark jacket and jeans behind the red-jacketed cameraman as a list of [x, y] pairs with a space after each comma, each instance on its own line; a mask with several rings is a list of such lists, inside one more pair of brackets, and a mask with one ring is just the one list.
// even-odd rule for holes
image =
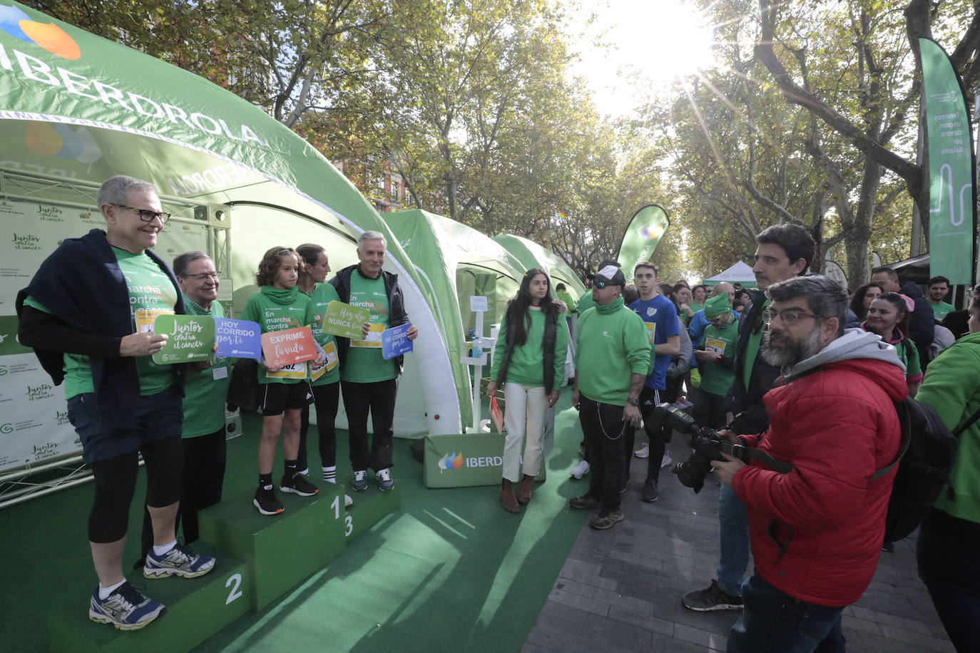
[[[750, 290], [752, 303], [739, 323], [735, 347], [735, 381], [732, 384], [735, 419], [728, 425], [734, 434], [757, 434], [768, 428], [769, 418], [762, 396], [779, 378], [779, 369], [760, 354], [765, 323], [762, 312], [768, 305], [765, 289], [807, 271], [815, 253], [808, 231], [795, 224], [779, 224], [756, 236], [756, 274], [759, 290]], [[722, 431], [722, 434], [725, 432]], [[699, 612], [742, 609], [742, 578], [749, 567], [749, 517], [735, 492], [722, 486], [718, 501], [720, 554], [717, 580], [705, 589], [684, 595], [684, 606]]]

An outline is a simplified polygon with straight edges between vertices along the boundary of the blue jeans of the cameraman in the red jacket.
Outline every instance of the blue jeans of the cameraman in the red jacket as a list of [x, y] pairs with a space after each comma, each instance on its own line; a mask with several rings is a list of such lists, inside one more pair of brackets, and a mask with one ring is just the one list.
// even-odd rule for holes
[[745, 608], [728, 634], [727, 653], [844, 651], [843, 607], [793, 598], [753, 574], [742, 586]]

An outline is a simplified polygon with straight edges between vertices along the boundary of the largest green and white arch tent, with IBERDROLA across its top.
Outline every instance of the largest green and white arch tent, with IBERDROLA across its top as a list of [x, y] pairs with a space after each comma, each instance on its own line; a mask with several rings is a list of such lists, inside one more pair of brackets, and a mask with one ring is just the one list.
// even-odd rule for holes
[[221, 87], [11, 3], [0, 6], [0, 472], [78, 448], [62, 389], [51, 388], [16, 342], [14, 298], [61, 239], [101, 224], [95, 191], [120, 173], [155, 183], [174, 214], [158, 252], [211, 253], [221, 299], [239, 309], [255, 292], [251, 275], [268, 248], [319, 243], [336, 269], [356, 260], [359, 233], [386, 234], [386, 266], [399, 273], [419, 330], [396, 433], [460, 433], [436, 298], [342, 174]]

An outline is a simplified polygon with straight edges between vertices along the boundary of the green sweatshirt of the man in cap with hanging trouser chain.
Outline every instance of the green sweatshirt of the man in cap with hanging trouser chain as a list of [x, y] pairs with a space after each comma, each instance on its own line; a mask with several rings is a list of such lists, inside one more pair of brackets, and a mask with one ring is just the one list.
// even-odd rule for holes
[[593, 401], [626, 405], [633, 374], [650, 374], [650, 337], [643, 319], [617, 297], [578, 317], [578, 392]]

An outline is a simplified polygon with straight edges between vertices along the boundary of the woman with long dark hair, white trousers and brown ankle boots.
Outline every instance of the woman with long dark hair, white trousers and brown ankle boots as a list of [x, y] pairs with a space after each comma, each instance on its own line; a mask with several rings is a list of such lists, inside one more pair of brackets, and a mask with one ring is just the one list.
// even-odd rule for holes
[[[558, 401], [568, 348], [568, 329], [561, 312], [562, 304], [552, 298], [548, 275], [533, 268], [521, 279], [517, 296], [508, 303], [497, 335], [487, 396], [494, 396], [504, 385], [507, 440], [500, 501], [508, 512], [518, 512], [518, 503], [531, 500], [534, 477], [541, 469], [545, 421], [548, 408]], [[520, 476], [522, 442], [524, 466]]]

